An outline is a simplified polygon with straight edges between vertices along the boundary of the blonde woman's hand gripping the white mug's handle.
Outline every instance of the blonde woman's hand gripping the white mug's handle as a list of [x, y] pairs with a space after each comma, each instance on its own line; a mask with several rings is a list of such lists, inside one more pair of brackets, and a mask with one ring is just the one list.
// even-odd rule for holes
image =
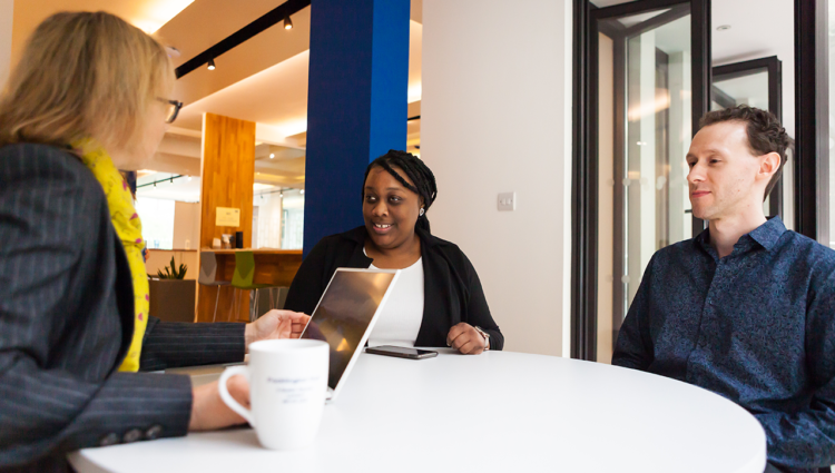
[[[237, 375], [226, 382], [235, 401], [249, 408], [249, 383], [244, 376]], [[229, 425], [244, 424], [246, 421], [232, 411], [220, 398], [217, 382], [191, 388], [191, 418], [188, 421], [189, 431], [214, 431]]]

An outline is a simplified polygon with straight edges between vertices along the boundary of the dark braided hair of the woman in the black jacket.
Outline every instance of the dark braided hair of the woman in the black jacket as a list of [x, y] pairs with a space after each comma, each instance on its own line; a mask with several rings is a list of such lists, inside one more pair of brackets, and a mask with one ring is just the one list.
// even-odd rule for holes
[[[389, 174], [397, 179], [397, 181], [402, 184], [406, 189], [418, 194], [423, 198], [424, 214], [422, 217], [418, 218], [418, 223], [415, 223], [414, 227], [426, 230], [426, 233], [431, 233], [426, 213], [432, 206], [432, 203], [435, 201], [435, 197], [438, 197], [438, 185], [435, 184], [435, 175], [432, 174], [432, 170], [428, 168], [419, 157], [412, 155], [411, 152], [390, 149], [385, 155], [374, 159], [365, 169], [362, 191], [363, 201], [365, 201], [365, 181], [369, 179], [369, 173], [371, 173], [371, 169], [376, 166], [389, 171]], [[396, 166], [403, 169], [403, 173], [405, 173], [406, 177], [409, 177], [412, 183], [414, 183], [414, 186], [409, 184], [409, 181], [406, 181], [403, 176], [394, 170], [392, 166]]]

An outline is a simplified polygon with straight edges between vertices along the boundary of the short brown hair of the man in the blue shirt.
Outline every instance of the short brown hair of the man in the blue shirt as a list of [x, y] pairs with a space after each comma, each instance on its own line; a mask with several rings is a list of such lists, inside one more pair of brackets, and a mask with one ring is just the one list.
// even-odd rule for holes
[[748, 135], [748, 147], [755, 156], [776, 152], [780, 156], [780, 166], [777, 173], [768, 181], [763, 200], [768, 197], [783, 175], [783, 166], [786, 164], [786, 151], [794, 146], [794, 139], [788, 136], [777, 117], [767, 110], [739, 105], [723, 110], [709, 111], [699, 120], [699, 128], [724, 121], [739, 121], [745, 124]]

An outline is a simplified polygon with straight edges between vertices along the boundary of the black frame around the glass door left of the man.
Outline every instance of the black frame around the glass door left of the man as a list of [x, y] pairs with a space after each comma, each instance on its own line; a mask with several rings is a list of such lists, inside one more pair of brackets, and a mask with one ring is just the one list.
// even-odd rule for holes
[[[598, 20], [690, 6], [690, 58], [692, 134], [710, 109], [710, 0], [638, 0], [597, 8], [589, 0], [573, 0], [573, 132], [572, 132], [572, 255], [571, 255], [571, 357], [597, 361], [598, 278]], [[667, 13], [662, 13], [665, 16]], [[661, 17], [659, 16], [659, 17]], [[651, 19], [648, 21], [652, 21]], [[616, 63], [616, 70], [618, 69]], [[618, 72], [616, 72], [617, 75]], [[616, 100], [616, 117], [625, 107]], [[622, 136], [616, 127], [616, 144]], [[616, 145], [617, 146], [617, 145]], [[616, 166], [622, 166], [616, 159]], [[622, 215], [615, 213], [616, 233]], [[694, 219], [694, 234], [704, 223]], [[616, 288], [618, 285], [616, 285]], [[622, 290], [622, 288], [621, 288]], [[616, 292], [617, 293], [617, 292]], [[617, 294], [616, 294], [617, 297]], [[613, 315], [618, 318], [618, 315]], [[612, 321], [619, 329], [621, 319]], [[617, 337], [615, 338], [617, 339]]]

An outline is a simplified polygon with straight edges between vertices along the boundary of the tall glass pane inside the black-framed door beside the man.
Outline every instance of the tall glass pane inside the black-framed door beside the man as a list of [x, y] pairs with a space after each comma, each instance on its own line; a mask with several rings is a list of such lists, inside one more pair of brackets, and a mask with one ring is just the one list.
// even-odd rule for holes
[[627, 41], [623, 314], [655, 252], [690, 238], [690, 17]]

